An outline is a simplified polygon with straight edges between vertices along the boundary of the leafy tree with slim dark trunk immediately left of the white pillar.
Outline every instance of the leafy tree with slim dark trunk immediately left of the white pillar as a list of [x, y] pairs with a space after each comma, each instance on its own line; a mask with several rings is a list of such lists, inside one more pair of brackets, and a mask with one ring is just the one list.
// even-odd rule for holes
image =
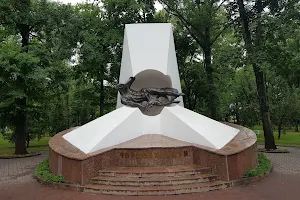
[[155, 12], [153, 1], [105, 0], [78, 5], [84, 26], [79, 39], [79, 62], [76, 73], [87, 76], [99, 88], [100, 116], [104, 114], [104, 91], [119, 75], [125, 24], [150, 22]]

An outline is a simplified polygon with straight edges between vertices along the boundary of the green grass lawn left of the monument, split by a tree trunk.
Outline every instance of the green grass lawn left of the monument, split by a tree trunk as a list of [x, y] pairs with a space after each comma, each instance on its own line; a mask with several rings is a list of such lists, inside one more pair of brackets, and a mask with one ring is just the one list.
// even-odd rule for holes
[[[41, 151], [48, 150], [48, 141], [50, 137], [43, 137], [40, 140], [33, 140], [29, 143], [28, 151]], [[15, 151], [15, 145], [13, 143], [4, 140], [0, 135], [0, 154], [13, 154]]]

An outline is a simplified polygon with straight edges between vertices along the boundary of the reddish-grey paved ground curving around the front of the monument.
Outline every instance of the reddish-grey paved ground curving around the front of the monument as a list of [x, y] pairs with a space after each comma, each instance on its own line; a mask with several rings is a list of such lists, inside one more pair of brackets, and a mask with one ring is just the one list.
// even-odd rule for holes
[[267, 154], [274, 164], [274, 172], [267, 178], [244, 186], [207, 193], [131, 197], [110, 196], [57, 190], [37, 183], [31, 176], [36, 163], [46, 157], [0, 159], [1, 200], [299, 200], [300, 199], [300, 149], [288, 148], [289, 154]]

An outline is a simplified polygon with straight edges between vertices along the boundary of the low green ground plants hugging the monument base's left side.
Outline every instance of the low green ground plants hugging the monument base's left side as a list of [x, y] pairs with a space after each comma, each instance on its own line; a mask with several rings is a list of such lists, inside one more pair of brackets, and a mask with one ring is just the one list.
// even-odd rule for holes
[[50, 172], [48, 158], [46, 158], [36, 167], [35, 175], [46, 182], [68, 183], [68, 181], [66, 181], [63, 176], [56, 176], [55, 174], [52, 174]]

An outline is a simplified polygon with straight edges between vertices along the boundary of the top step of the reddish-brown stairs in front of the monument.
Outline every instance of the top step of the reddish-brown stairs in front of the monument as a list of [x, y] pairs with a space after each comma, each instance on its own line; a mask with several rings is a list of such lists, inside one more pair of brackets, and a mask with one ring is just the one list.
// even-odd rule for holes
[[110, 177], [179, 177], [185, 175], [208, 174], [210, 167], [180, 165], [165, 167], [117, 167], [99, 171], [99, 176]]

